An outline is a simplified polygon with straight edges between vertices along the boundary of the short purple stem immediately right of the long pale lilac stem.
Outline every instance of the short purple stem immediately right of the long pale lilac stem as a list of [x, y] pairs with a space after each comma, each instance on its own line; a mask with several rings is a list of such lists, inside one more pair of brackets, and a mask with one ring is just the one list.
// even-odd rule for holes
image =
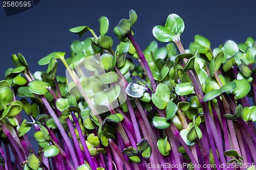
[[73, 124], [72, 124], [72, 122], [69, 118], [67, 118], [66, 121], [67, 121], [67, 125], [69, 127], [69, 131], [71, 133], [71, 136], [72, 136], [75, 148], [76, 148], [76, 152], [77, 152], [77, 155], [78, 155], [78, 159], [80, 161], [80, 165], [82, 165], [82, 164], [84, 164], [84, 162], [83, 162], [84, 158], [82, 156], [82, 150], [80, 148], [79, 141], [77, 139], [77, 136], [76, 136], [76, 133], [75, 133], [75, 130], [74, 130], [74, 126], [73, 126]]

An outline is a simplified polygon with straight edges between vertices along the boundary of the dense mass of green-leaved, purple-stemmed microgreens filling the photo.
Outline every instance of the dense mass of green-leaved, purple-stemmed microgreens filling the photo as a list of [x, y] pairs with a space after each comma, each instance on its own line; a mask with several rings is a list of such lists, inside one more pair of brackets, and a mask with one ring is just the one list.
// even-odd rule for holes
[[[138, 16], [129, 15], [114, 27], [121, 42], [108, 35], [105, 16], [99, 35], [91, 26], [70, 29], [88, 37], [71, 43], [69, 58], [40, 59], [46, 70], [32, 74], [22, 54], [11, 56], [15, 68], [0, 81], [0, 169], [255, 168], [256, 41], [211, 48], [196, 35], [185, 50], [184, 21], [170, 14], [153, 28], [169, 43], [145, 42], [142, 51], [134, 39]], [[67, 77], [57, 75], [59, 60]]]

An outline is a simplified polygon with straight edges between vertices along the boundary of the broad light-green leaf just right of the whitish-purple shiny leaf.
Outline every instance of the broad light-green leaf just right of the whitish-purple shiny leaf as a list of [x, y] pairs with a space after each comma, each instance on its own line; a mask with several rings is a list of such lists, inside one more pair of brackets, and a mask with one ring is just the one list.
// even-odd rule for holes
[[170, 91], [166, 84], [160, 83], [152, 94], [152, 101], [159, 109], [164, 109], [170, 100]]

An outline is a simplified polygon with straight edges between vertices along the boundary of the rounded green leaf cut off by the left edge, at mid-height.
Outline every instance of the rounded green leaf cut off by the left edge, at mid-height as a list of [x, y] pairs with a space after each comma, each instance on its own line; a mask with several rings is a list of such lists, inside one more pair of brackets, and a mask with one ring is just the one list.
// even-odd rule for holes
[[9, 87], [0, 88], [0, 110], [5, 108], [13, 100], [13, 92]]

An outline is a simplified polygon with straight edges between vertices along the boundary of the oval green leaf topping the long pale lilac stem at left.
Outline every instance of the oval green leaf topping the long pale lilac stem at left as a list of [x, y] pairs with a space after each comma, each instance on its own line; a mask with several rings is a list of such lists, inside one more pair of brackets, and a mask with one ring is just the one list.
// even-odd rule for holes
[[51, 85], [47, 82], [36, 79], [31, 81], [28, 87], [35, 94], [45, 94], [48, 92], [48, 89], [51, 87]]

